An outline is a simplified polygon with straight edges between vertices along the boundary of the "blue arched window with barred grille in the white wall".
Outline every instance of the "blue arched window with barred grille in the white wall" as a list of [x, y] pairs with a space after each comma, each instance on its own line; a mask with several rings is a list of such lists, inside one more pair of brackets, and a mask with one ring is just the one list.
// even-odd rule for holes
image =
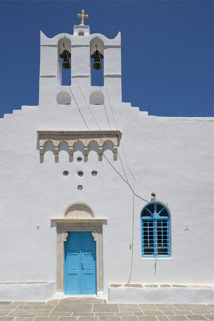
[[170, 257], [170, 216], [167, 208], [150, 203], [141, 211], [142, 257]]

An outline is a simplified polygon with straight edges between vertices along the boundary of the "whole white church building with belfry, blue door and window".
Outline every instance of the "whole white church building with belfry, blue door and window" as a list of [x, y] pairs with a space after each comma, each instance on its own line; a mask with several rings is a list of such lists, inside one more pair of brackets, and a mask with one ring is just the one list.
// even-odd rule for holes
[[212, 303], [213, 118], [122, 102], [120, 32], [73, 28], [41, 32], [39, 105], [1, 119], [1, 300]]

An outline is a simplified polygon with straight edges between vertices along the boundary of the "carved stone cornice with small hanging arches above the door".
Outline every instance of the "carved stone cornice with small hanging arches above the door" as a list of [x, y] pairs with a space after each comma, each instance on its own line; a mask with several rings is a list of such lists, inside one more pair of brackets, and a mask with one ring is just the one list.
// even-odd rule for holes
[[[122, 134], [119, 130], [82, 130], [82, 131], [63, 131], [63, 130], [37, 130], [39, 134], [40, 157], [44, 157], [44, 147], [47, 142], [52, 142], [55, 147], [55, 157], [59, 157], [59, 144], [68, 143], [70, 157], [73, 157], [73, 146], [77, 142], [84, 145], [85, 158], [88, 158], [88, 146], [90, 142], [96, 142], [99, 146], [99, 156], [103, 156], [103, 144], [112, 143], [114, 146], [114, 156], [117, 156], [118, 136]], [[118, 135], [119, 134], [119, 135]]]

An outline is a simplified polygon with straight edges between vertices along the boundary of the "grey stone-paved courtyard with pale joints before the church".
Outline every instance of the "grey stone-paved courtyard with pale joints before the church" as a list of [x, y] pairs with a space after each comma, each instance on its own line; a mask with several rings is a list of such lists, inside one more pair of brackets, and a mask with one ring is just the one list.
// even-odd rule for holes
[[0, 320], [183, 321], [213, 320], [213, 304], [109, 304], [97, 298], [47, 302], [1, 301]]

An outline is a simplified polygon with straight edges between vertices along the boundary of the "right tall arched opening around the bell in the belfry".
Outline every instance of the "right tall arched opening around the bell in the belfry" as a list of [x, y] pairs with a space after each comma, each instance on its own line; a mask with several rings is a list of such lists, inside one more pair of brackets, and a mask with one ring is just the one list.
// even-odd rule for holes
[[[99, 56], [102, 57], [104, 55], [104, 43], [102, 41], [102, 39], [95, 37], [93, 39], [91, 39], [90, 41], [90, 56], [93, 55], [94, 53], [96, 53], [96, 45], [98, 45], [98, 51], [100, 53]], [[99, 60], [100, 63], [103, 66], [103, 71], [104, 71], [104, 59], [100, 59]], [[93, 63], [95, 62], [94, 58], [90, 59], [90, 63], [91, 63], [91, 86], [104, 86], [104, 76], [103, 76], [103, 71], [102, 69], [94, 69], [93, 68]], [[101, 68], [101, 65], [100, 65]]]

